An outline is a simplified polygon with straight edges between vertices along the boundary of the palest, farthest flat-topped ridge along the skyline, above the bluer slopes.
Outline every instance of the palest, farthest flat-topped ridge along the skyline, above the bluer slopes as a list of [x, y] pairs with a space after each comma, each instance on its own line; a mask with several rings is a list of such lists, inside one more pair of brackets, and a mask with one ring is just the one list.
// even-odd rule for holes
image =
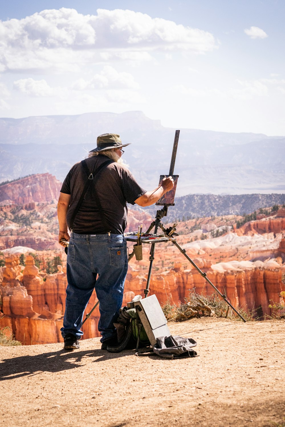
[[[78, 115], [35, 116], [21, 119], [0, 118], [0, 143], [57, 143], [78, 144], [94, 143], [98, 135], [106, 132], [117, 132], [129, 139], [144, 140], [148, 132], [155, 132], [153, 140], [163, 132], [162, 138], [173, 129], [162, 126], [160, 120], [148, 118], [142, 111], [125, 113], [85, 113]], [[228, 143], [245, 144], [264, 139], [280, 139], [280, 136], [254, 134], [250, 132], [228, 133], [205, 131], [199, 129], [182, 129], [190, 143]], [[183, 135], [181, 135], [183, 138]], [[174, 135], [173, 135], [174, 137]], [[150, 145], [146, 140], [147, 145]], [[151, 144], [153, 141], [151, 142]]]

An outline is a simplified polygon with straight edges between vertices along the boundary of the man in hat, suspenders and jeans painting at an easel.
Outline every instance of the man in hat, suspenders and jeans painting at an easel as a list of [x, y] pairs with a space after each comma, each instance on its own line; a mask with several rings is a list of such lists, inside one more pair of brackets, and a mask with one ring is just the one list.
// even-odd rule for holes
[[[122, 305], [128, 269], [123, 236], [126, 203], [149, 206], [173, 188], [171, 177], [164, 178], [161, 186], [153, 191], [141, 188], [120, 159], [121, 148], [127, 145], [123, 145], [116, 134], [98, 136], [97, 148], [89, 153], [85, 169], [82, 162], [76, 163], [62, 184], [58, 202], [59, 243], [65, 246], [64, 240], [67, 240], [69, 245], [68, 287], [61, 331], [67, 349], [79, 348], [84, 310], [94, 288], [100, 301], [98, 330], [102, 335], [102, 348], [116, 345], [113, 322]], [[79, 202], [88, 178], [91, 184]]]

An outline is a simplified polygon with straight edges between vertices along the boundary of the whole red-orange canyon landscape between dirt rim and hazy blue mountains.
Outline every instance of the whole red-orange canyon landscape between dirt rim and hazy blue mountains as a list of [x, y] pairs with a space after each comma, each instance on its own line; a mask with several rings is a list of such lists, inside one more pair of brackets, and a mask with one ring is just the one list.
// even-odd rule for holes
[[[52, 175], [38, 174], [1, 189], [5, 203], [0, 206], [0, 251], [5, 265], [0, 268], [0, 328], [9, 326], [25, 345], [62, 342], [67, 278], [66, 255], [57, 243], [55, 202], [60, 183]], [[257, 214], [256, 220], [237, 227], [242, 218], [225, 215], [182, 221], [177, 242], [234, 307], [271, 316], [269, 304], [282, 303], [279, 294], [285, 290], [285, 208]], [[141, 223], [146, 230], [150, 222], [149, 213], [130, 209], [127, 231], [136, 231]], [[133, 258], [129, 263], [123, 305], [144, 293], [149, 251], [150, 245], [144, 244], [143, 260]], [[48, 274], [52, 259], [58, 266]], [[213, 292], [172, 243], [157, 244], [150, 293], [162, 304], [178, 304], [194, 288], [197, 293]], [[96, 301], [94, 292], [86, 313]], [[99, 336], [98, 320], [96, 309], [83, 326], [85, 338]]]

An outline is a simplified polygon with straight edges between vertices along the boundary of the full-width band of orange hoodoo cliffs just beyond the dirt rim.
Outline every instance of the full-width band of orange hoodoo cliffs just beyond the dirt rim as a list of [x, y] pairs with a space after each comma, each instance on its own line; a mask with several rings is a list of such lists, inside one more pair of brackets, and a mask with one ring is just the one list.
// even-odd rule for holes
[[[284, 267], [275, 261], [271, 267], [264, 268], [250, 264], [252, 268], [224, 270], [222, 263], [211, 266], [209, 261], [196, 259], [194, 262], [207, 273], [207, 277], [220, 292], [226, 292], [227, 298], [234, 307], [242, 307], [245, 311], [261, 307], [263, 314], [271, 314], [268, 308], [270, 301], [279, 302], [278, 293], [285, 290], [282, 283]], [[65, 289], [67, 286], [66, 268], [58, 266], [55, 274], [43, 278], [35, 266], [34, 258], [26, 256], [23, 269], [17, 256], [6, 257], [3, 268], [3, 281], [0, 287], [2, 295], [2, 311], [5, 316], [0, 318], [0, 328], [9, 326], [15, 338], [29, 344], [62, 342], [62, 327], [65, 310]], [[129, 266], [125, 283], [123, 305], [137, 295], [144, 295], [147, 282], [147, 271], [141, 272]], [[159, 302], [170, 300], [172, 303], [183, 301], [189, 290], [195, 288], [197, 293], [211, 295], [213, 288], [197, 272], [196, 269], [183, 269], [181, 263], [163, 273], [152, 275], [150, 295], [155, 293]], [[95, 292], [91, 296], [85, 313], [88, 313], [97, 302]], [[261, 312], [260, 312], [261, 313]], [[259, 314], [260, 314], [259, 313]], [[99, 308], [91, 314], [83, 325], [84, 338], [100, 336], [97, 325]]]

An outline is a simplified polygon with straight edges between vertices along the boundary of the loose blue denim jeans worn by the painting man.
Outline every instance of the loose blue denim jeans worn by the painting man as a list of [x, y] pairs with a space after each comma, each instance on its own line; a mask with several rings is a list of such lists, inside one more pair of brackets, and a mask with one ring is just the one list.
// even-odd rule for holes
[[[116, 335], [113, 325], [123, 302], [128, 269], [126, 239], [122, 234], [71, 233], [67, 255], [66, 306], [62, 336], [79, 339], [85, 308], [95, 288], [99, 302], [101, 342]], [[97, 276], [98, 275], [98, 276]], [[78, 325], [76, 320], [80, 319]], [[87, 320], [88, 322], [88, 320]]]

